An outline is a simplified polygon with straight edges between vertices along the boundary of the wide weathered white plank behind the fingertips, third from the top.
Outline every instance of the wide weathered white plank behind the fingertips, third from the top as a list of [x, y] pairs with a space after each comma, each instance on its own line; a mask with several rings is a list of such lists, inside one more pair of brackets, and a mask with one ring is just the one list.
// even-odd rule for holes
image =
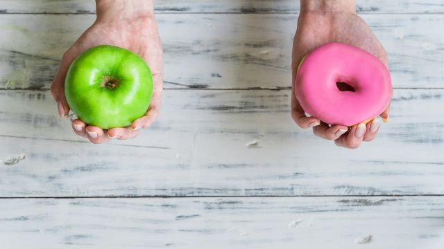
[[48, 92], [0, 91], [0, 196], [444, 194], [444, 90], [395, 91], [388, 123], [357, 150], [298, 129], [289, 99], [167, 90], [139, 138], [92, 145]]

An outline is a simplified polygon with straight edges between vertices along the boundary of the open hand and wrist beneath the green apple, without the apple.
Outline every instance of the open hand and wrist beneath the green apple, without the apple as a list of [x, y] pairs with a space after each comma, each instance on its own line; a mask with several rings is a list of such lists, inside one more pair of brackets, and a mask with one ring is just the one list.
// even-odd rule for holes
[[51, 84], [51, 94], [58, 103], [59, 116], [66, 116], [69, 112], [65, 98], [65, 76], [69, 65], [87, 48], [109, 44], [132, 50], [145, 59], [153, 73], [153, 97], [150, 106], [145, 116], [134, 120], [129, 127], [107, 131], [78, 119], [72, 121], [71, 126], [75, 133], [97, 144], [108, 142], [112, 138], [134, 138], [139, 129], [149, 127], [157, 118], [162, 102], [163, 51], [152, 1], [97, 0], [96, 12], [94, 24], [63, 55], [58, 73]]

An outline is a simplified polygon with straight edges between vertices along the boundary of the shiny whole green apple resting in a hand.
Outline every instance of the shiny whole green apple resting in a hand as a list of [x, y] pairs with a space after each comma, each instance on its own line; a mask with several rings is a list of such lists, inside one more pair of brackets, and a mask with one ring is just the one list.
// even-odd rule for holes
[[102, 129], [126, 127], [144, 116], [153, 95], [153, 75], [139, 55], [100, 45], [78, 56], [65, 78], [71, 110]]

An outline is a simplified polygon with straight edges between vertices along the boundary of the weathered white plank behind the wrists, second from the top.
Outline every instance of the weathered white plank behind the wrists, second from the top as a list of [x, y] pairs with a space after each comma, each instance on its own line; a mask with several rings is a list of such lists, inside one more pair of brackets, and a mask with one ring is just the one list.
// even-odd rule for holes
[[[289, 87], [296, 15], [158, 15], [166, 88]], [[444, 87], [444, 15], [364, 15], [395, 87]], [[48, 89], [85, 15], [0, 15], [0, 87]]]

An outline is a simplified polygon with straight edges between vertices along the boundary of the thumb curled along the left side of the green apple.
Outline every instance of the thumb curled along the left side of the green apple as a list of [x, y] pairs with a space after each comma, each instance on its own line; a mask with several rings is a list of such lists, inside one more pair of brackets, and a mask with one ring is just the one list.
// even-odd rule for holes
[[66, 116], [69, 112], [68, 102], [65, 98], [65, 77], [69, 65], [71, 65], [74, 59], [76, 59], [76, 54], [73, 52], [72, 48], [69, 48], [63, 54], [56, 77], [54, 77], [53, 83], [51, 84], [51, 95], [53, 95], [53, 98], [57, 102], [58, 116], [60, 118]]

